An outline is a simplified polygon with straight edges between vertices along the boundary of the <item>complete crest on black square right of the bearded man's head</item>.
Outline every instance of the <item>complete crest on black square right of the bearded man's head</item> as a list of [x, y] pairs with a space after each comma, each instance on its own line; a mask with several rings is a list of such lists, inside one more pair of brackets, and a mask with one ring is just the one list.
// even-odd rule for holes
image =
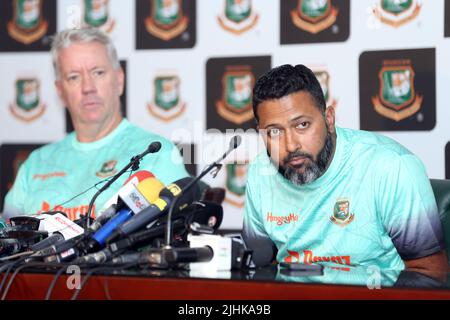
[[409, 60], [386, 60], [378, 74], [379, 95], [372, 103], [382, 116], [400, 121], [418, 112], [423, 96], [414, 89], [414, 70]]

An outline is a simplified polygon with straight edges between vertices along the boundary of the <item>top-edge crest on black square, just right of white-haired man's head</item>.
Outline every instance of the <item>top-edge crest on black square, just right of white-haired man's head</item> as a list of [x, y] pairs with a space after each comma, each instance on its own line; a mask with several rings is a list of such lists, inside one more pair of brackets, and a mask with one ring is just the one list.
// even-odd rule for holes
[[184, 32], [189, 18], [183, 14], [182, 0], [150, 0], [152, 12], [145, 19], [147, 31], [169, 41]]

